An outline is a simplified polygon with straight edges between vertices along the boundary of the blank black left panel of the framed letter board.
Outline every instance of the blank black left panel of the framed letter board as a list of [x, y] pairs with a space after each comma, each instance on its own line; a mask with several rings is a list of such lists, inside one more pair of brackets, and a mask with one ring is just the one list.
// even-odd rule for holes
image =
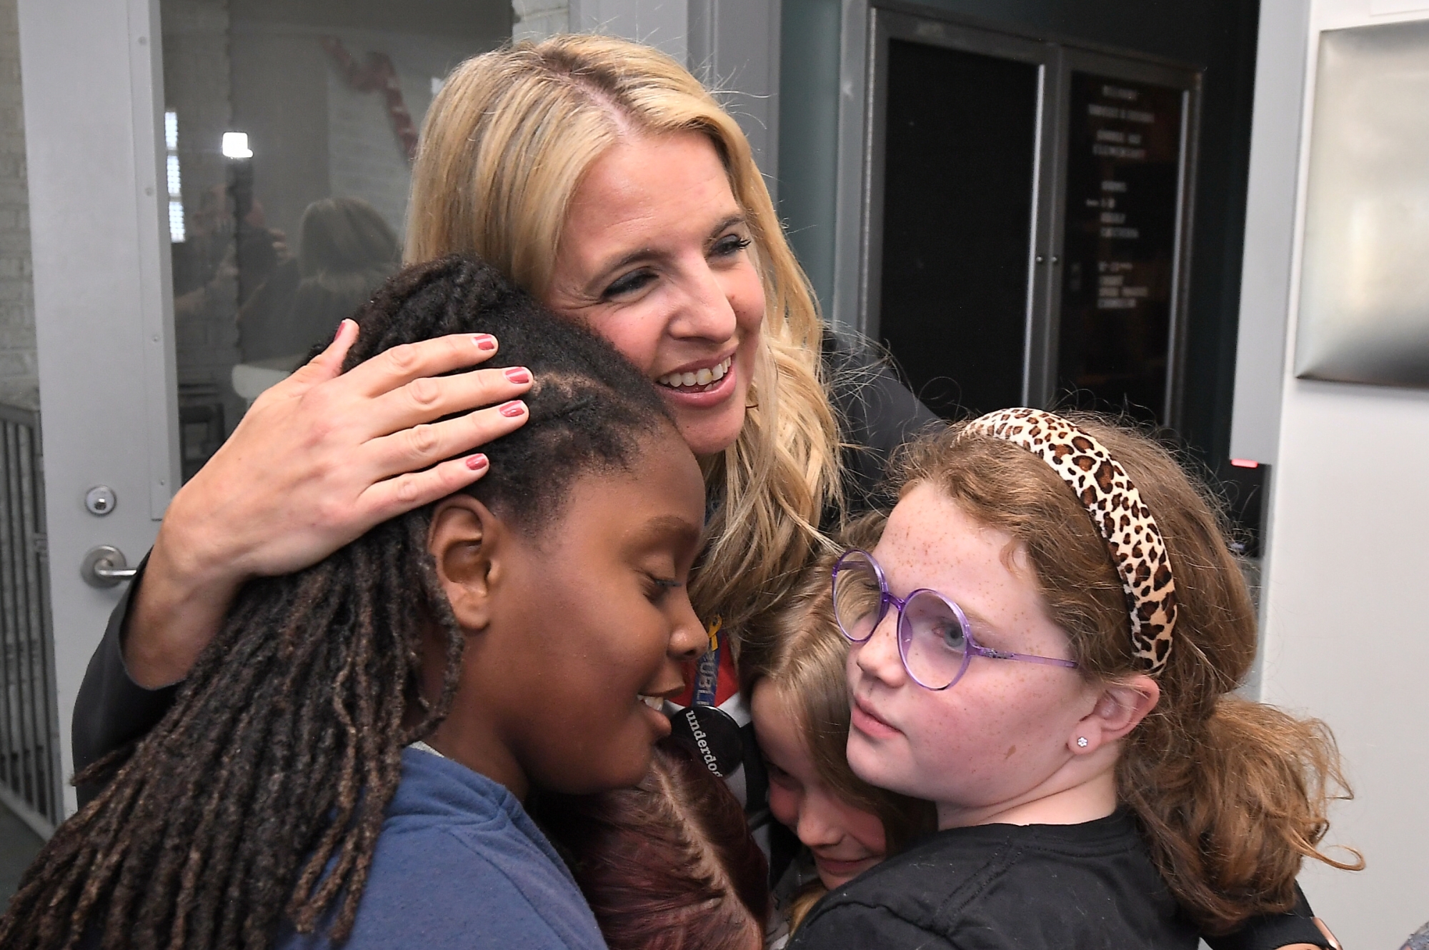
[[1040, 73], [889, 41], [879, 337], [943, 416], [1022, 401]]

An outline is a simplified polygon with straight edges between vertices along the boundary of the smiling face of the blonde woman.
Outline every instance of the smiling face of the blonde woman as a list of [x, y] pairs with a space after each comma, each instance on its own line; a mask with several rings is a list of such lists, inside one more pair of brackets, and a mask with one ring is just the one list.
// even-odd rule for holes
[[656, 383], [697, 456], [735, 443], [765, 319], [745, 211], [699, 133], [632, 136], [586, 171], [544, 303]]

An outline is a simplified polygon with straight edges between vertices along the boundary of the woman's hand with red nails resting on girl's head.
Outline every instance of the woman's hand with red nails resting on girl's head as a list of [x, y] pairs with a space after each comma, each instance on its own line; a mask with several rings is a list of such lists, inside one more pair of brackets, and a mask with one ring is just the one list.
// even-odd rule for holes
[[[244, 581], [314, 564], [374, 524], [472, 484], [486, 457], [452, 456], [526, 421], [526, 406], [512, 400], [530, 389], [529, 373], [439, 377], [493, 356], [490, 336], [399, 346], [340, 373], [356, 339], [357, 324], [344, 320], [327, 350], [259, 396], [174, 496], [124, 639], [140, 686], [181, 680]], [[487, 409], [432, 421], [479, 406]]]

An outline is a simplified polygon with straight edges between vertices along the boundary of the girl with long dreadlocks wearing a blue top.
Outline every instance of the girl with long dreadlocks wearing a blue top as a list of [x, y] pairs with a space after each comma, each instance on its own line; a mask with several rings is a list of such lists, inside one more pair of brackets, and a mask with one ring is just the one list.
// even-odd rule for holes
[[633, 786], [669, 733], [706, 640], [699, 466], [637, 370], [484, 264], [412, 269], [360, 319], [349, 364], [499, 333], [530, 421], [473, 490], [244, 587], [0, 947], [603, 947], [522, 800]]

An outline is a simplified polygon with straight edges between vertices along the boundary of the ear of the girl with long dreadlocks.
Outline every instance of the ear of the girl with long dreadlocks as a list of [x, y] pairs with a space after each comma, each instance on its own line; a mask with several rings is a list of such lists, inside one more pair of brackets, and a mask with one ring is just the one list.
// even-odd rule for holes
[[484, 630], [492, 620], [492, 589], [500, 581], [503, 524], [469, 494], [453, 494], [432, 513], [427, 550], [437, 580], [464, 630]]

